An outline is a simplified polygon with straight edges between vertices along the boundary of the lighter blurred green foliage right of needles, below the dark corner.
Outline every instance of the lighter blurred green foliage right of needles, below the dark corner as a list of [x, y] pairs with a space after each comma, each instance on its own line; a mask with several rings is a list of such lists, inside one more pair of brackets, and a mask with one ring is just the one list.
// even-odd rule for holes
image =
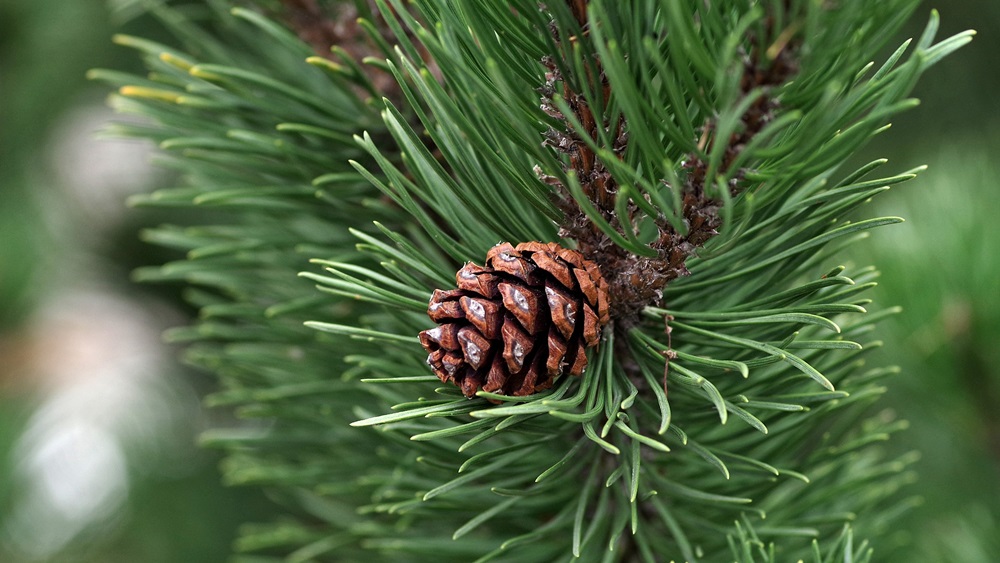
[[997, 150], [1000, 137], [958, 138], [880, 202], [907, 218], [870, 247], [882, 270], [877, 300], [903, 307], [881, 351], [901, 368], [889, 402], [911, 423], [895, 446], [922, 454], [924, 502], [908, 520], [915, 551], [902, 561], [986, 563], [1000, 553]]

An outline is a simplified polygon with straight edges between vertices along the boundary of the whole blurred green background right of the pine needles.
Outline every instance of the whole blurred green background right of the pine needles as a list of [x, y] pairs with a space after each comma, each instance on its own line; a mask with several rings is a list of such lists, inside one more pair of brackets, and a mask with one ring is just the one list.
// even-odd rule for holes
[[941, 10], [943, 33], [978, 34], [872, 147], [929, 169], [876, 201], [907, 222], [874, 234], [858, 259], [882, 271], [876, 302], [903, 308], [881, 326], [878, 361], [901, 368], [887, 403], [910, 429], [893, 446], [922, 456], [922, 503], [901, 523], [909, 547], [894, 561], [987, 563], [1000, 554], [1000, 3], [925, 5]]

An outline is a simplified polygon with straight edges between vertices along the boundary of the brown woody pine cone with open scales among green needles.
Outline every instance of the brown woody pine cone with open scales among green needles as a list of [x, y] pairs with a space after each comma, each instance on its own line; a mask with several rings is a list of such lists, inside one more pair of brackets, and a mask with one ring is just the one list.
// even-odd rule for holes
[[608, 322], [608, 284], [597, 265], [556, 243], [501, 243], [486, 266], [467, 263], [458, 289], [435, 290], [420, 333], [427, 364], [466, 397], [482, 389], [524, 396], [562, 373], [580, 375]]

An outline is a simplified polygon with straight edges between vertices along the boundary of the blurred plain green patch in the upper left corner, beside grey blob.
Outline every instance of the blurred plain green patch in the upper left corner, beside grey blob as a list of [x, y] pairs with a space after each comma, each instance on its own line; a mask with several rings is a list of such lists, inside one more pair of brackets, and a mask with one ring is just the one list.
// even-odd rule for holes
[[101, 2], [0, 3], [0, 330], [37, 297], [54, 241], [38, 189], [50, 127], [80, 95], [84, 70], [108, 60], [111, 25]]

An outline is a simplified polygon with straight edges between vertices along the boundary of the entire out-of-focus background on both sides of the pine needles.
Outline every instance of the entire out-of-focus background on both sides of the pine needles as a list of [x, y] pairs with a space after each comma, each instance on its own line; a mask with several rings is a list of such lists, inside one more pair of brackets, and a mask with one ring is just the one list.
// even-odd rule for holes
[[[905, 36], [932, 7], [940, 36], [979, 35], [864, 151], [891, 173], [930, 168], [866, 210], [907, 222], [853, 257], [883, 272], [878, 306], [903, 307], [880, 325], [877, 358], [900, 366], [884, 404], [910, 421], [891, 447], [921, 452], [898, 560], [995, 562], [1000, 2], [925, 3]], [[0, 0], [0, 561], [220, 561], [239, 522], [267, 517], [262, 495], [224, 488], [217, 454], [196, 446], [228, 413], [202, 409], [211, 379], [159, 336], [192, 311], [177, 288], [129, 281], [172, 258], [139, 229], [182, 218], [124, 204], [169, 181], [152, 147], [95, 140], [112, 115], [86, 71], [141, 72], [111, 35], [163, 36], [114, 20], [107, 0]]]

